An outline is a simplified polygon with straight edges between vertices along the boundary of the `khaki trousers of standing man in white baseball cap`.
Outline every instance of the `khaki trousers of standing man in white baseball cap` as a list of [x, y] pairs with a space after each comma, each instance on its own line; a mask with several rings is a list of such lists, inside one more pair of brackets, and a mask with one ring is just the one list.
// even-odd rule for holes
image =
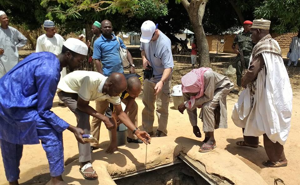
[[[149, 80], [144, 81], [143, 86], [143, 104], [144, 109], [142, 111], [142, 125], [143, 129], [147, 132], [153, 132], [153, 122], [154, 122], [154, 109], [156, 101], [156, 116], [158, 118], [157, 130], [162, 133], [160, 136], [166, 136], [167, 124], [168, 124], [168, 108], [170, 102], [170, 87], [171, 87], [172, 74], [170, 75], [168, 81], [163, 85], [163, 89], [157, 94], [155, 93], [156, 83]], [[158, 132], [159, 133], [159, 132]], [[159, 135], [159, 134], [158, 134]]]

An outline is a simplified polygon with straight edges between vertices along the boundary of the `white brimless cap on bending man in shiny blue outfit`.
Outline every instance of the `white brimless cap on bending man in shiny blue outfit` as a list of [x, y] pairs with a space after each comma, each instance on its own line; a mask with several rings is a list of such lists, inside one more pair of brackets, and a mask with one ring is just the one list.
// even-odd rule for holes
[[71, 51], [81, 55], [88, 55], [88, 46], [81, 40], [68, 38], [63, 45]]

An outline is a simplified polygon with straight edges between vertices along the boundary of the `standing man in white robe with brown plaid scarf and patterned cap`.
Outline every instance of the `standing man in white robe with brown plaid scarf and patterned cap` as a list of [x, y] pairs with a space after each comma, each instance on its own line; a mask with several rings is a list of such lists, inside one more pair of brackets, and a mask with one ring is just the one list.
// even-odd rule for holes
[[292, 87], [284, 67], [281, 50], [269, 34], [271, 21], [254, 20], [252, 40], [257, 43], [250, 65], [242, 77], [242, 91], [233, 107], [232, 120], [243, 128], [239, 146], [258, 147], [258, 136], [269, 160], [267, 167], [287, 166], [283, 145], [287, 140], [292, 116]]

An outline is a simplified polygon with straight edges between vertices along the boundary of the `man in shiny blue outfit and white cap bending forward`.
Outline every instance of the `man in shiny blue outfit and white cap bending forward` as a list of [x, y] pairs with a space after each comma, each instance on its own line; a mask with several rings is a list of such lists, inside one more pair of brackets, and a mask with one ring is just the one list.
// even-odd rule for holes
[[71, 71], [80, 67], [88, 54], [88, 46], [69, 38], [62, 52], [32, 53], [0, 79], [0, 147], [9, 184], [18, 184], [23, 145], [39, 144], [49, 162], [51, 184], [61, 185], [63, 131], [74, 133], [80, 143], [84, 131], [69, 125], [50, 109], [63, 67]]

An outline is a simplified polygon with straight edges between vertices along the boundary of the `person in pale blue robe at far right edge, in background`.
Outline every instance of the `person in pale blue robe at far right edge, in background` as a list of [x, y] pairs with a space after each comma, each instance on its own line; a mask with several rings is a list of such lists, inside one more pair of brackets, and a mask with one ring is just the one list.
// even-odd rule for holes
[[287, 66], [290, 66], [292, 63], [294, 63], [294, 67], [297, 66], [298, 59], [300, 58], [300, 31], [297, 36], [292, 38], [287, 58], [289, 58]]

